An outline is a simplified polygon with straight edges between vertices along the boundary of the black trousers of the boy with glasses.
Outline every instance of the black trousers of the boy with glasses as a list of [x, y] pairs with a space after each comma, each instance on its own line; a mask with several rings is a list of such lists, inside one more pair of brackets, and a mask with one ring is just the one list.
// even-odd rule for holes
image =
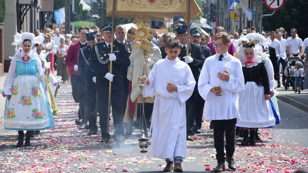
[[[217, 163], [225, 163], [225, 155], [233, 157], [235, 151], [236, 118], [228, 120], [212, 120], [214, 126], [214, 147]], [[224, 133], [226, 132], [226, 154], [224, 151]]]

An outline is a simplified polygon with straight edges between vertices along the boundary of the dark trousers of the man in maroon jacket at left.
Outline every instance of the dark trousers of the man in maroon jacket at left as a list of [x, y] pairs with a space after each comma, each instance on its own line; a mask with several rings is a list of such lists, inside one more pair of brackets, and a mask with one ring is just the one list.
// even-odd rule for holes
[[[79, 103], [78, 118], [84, 119], [84, 106], [86, 105], [86, 85], [81, 75], [72, 74], [72, 95], [76, 103]], [[80, 116], [79, 116], [80, 111]]]

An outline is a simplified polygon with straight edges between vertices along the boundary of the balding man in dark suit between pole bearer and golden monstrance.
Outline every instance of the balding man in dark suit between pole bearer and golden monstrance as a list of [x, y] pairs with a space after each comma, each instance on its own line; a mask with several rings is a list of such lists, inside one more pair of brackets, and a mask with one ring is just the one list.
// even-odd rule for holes
[[[126, 36], [126, 29], [125, 26], [123, 25], [118, 25], [115, 28], [115, 35], [117, 39], [113, 42], [116, 47], [118, 47], [118, 56], [119, 57], [125, 57], [129, 58], [129, 55], [131, 55], [131, 42], [127, 41], [125, 39]], [[130, 62], [130, 66], [133, 66], [133, 63]], [[127, 67], [126, 65], [122, 67], [122, 76], [123, 76], [123, 117], [124, 117], [124, 112], [127, 104], [127, 98], [128, 98], [128, 79], [127, 79]], [[124, 127], [126, 129], [126, 135], [131, 135], [132, 134], [132, 125], [131, 124], [124, 124]]]

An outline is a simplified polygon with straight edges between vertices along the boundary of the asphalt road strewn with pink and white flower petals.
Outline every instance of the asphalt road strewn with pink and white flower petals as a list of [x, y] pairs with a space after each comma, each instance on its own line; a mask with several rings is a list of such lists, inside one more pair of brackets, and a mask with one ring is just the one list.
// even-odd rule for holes
[[[0, 172], [122, 172], [125, 168], [129, 172], [162, 172], [164, 160], [151, 157], [150, 152], [140, 153], [139, 130], [122, 144], [101, 144], [100, 135], [87, 136], [86, 130], [78, 130], [74, 123], [78, 107], [70, 91], [69, 85], [59, 89], [56, 127], [34, 137], [31, 147], [16, 148], [17, 132], [4, 130], [0, 121]], [[282, 123], [260, 129], [262, 141], [256, 146], [236, 146], [238, 169], [226, 172], [289, 173], [307, 169], [308, 113], [281, 101], [278, 104]], [[216, 166], [212, 134], [209, 123], [204, 123], [196, 140], [187, 142], [184, 172], [210, 172], [206, 169]], [[237, 138], [236, 144], [240, 142]]]

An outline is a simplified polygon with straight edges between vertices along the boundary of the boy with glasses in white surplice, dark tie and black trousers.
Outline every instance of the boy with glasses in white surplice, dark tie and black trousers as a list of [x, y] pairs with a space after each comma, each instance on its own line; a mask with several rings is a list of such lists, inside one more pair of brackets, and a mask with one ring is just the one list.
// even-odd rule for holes
[[[205, 60], [198, 82], [198, 91], [206, 101], [206, 121], [212, 121], [214, 126], [214, 146], [218, 162], [214, 172], [225, 171], [225, 159], [229, 169], [236, 170], [233, 159], [235, 124], [240, 120], [238, 92], [244, 89], [244, 75], [240, 60], [228, 53], [229, 46], [230, 36], [226, 32], [220, 32], [215, 36], [216, 54]], [[220, 90], [217, 89], [218, 86], [221, 87]], [[224, 152], [225, 132], [226, 154]]]

